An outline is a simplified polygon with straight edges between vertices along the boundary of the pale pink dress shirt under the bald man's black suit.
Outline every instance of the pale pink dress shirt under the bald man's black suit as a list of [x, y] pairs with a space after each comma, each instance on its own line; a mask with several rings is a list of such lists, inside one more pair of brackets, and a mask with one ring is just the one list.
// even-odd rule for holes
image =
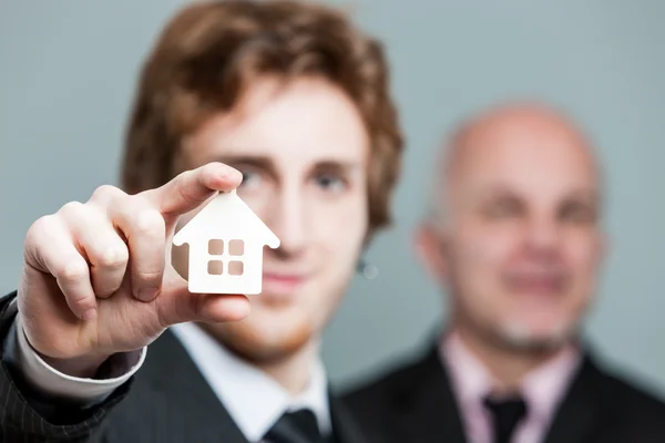
[[[454, 332], [444, 336], [440, 352], [450, 374], [468, 442], [492, 443], [492, 419], [482, 404], [492, 389], [491, 375]], [[528, 415], [515, 429], [512, 443], [544, 441], [556, 406], [580, 362], [580, 352], [571, 347], [525, 377], [522, 396]]]

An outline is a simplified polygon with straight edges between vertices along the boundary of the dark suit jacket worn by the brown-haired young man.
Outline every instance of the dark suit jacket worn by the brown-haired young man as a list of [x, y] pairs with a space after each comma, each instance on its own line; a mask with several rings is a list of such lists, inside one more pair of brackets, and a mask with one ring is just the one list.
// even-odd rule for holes
[[[0, 300], [0, 338], [17, 313]], [[4, 349], [2, 349], [3, 351]], [[260, 399], [257, 399], [260, 401]], [[336, 443], [364, 443], [354, 420], [330, 398]], [[166, 331], [130, 382], [101, 405], [66, 406], [31, 392], [10, 362], [0, 369], [0, 442], [246, 443], [180, 341]]]

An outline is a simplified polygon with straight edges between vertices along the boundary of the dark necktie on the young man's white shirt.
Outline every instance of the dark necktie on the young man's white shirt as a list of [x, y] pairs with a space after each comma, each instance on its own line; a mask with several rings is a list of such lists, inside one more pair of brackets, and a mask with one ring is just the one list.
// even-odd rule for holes
[[268, 443], [321, 443], [316, 415], [308, 409], [286, 412], [270, 427], [264, 440]]

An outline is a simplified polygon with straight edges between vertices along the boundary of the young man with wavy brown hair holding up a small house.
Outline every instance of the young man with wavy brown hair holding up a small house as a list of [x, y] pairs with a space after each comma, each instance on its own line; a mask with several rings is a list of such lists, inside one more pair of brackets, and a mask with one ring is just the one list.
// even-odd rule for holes
[[[181, 10], [142, 72], [123, 189], [28, 231], [0, 305], [0, 440], [362, 441], [318, 347], [389, 223], [402, 141], [388, 83], [380, 44], [336, 10]], [[263, 292], [190, 293], [173, 235], [232, 189], [280, 240]]]

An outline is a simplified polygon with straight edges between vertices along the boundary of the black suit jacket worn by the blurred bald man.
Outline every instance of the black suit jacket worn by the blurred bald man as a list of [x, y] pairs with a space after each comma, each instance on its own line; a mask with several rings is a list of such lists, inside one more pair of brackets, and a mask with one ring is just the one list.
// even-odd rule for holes
[[[433, 348], [344, 396], [372, 441], [467, 442], [448, 374]], [[665, 442], [665, 404], [601, 370], [586, 354], [542, 443], [656, 442]]]

